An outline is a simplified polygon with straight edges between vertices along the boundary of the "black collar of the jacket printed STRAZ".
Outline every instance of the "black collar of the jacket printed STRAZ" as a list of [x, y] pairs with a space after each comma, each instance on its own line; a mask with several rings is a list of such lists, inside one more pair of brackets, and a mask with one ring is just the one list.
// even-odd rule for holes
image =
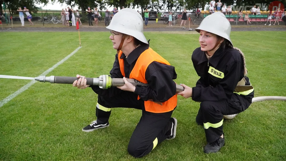
[[201, 51], [201, 57], [200, 60], [198, 61], [198, 64], [208, 61], [210, 64], [212, 64], [213, 67], [216, 67], [219, 60], [225, 55], [225, 52], [223, 51], [223, 47], [220, 46], [217, 51], [215, 51], [215, 54], [212, 55], [210, 60], [206, 58], [206, 54], [204, 51]]

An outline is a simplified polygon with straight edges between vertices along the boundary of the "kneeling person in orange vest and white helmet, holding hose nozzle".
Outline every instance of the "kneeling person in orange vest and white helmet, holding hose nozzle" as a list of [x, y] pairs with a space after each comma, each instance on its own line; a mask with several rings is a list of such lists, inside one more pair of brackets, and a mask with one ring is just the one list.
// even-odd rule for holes
[[[90, 132], [109, 126], [111, 109], [127, 107], [142, 110], [142, 117], [128, 145], [128, 152], [138, 158], [150, 153], [160, 142], [176, 136], [176, 118], [171, 117], [177, 106], [175, 68], [149, 48], [143, 34], [143, 20], [134, 9], [121, 9], [112, 18], [110, 29], [113, 48], [117, 49], [111, 78], [123, 78], [125, 85], [100, 89], [86, 85], [84, 76], [73, 84], [84, 89], [91, 87], [98, 94], [97, 120], [82, 131]], [[133, 78], [149, 86], [138, 87], [127, 82]]]

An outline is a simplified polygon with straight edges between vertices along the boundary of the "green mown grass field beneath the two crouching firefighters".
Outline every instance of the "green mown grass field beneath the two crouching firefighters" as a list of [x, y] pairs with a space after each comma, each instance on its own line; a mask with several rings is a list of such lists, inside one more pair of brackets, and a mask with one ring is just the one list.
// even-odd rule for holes
[[[116, 50], [108, 32], [82, 32], [82, 48], [47, 74], [97, 77], [109, 74]], [[193, 87], [198, 79], [192, 51], [198, 34], [146, 32], [150, 47], [175, 66], [176, 83]], [[286, 96], [286, 32], [232, 32], [233, 44], [246, 57], [249, 78], [258, 96]], [[35, 77], [78, 48], [77, 32], [2, 32], [0, 74]], [[30, 80], [0, 79], [0, 101]], [[92, 89], [37, 82], [0, 108], [0, 160], [286, 160], [286, 102], [263, 101], [233, 120], [224, 121], [226, 144], [204, 154], [204, 129], [195, 117], [199, 103], [178, 96], [173, 117], [174, 140], [135, 159], [127, 146], [141, 111], [114, 108], [110, 126], [90, 133], [96, 120]]]

